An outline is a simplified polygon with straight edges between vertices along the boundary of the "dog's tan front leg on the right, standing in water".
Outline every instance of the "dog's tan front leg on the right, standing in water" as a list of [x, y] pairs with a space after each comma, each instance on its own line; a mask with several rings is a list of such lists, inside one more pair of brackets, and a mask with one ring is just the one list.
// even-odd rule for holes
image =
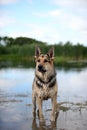
[[52, 101], [52, 113], [51, 113], [51, 121], [55, 121], [56, 110], [57, 110], [57, 96], [51, 98]]

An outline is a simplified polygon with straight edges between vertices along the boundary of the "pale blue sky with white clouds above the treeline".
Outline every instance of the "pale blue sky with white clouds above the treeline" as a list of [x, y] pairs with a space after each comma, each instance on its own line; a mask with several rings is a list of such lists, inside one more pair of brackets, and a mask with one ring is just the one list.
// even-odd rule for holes
[[0, 0], [0, 36], [87, 46], [87, 0]]

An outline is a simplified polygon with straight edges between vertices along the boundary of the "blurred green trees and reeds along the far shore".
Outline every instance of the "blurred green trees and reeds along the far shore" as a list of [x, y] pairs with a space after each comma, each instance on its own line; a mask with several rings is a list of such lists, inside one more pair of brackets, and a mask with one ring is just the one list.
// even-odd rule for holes
[[[73, 45], [70, 41], [66, 43], [55, 43], [48, 45], [46, 42], [27, 37], [0, 37], [0, 67], [4, 65], [26, 65], [34, 66], [35, 46], [40, 46], [45, 53], [51, 46], [55, 48], [56, 66], [87, 66], [87, 46], [81, 43]], [[5, 64], [4, 64], [5, 63]]]

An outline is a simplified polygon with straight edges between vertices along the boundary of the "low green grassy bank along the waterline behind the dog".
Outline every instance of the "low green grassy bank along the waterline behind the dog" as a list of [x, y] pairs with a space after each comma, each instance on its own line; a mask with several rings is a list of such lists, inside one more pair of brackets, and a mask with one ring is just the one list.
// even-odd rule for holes
[[[55, 57], [56, 67], [86, 67], [87, 59], [71, 59], [70, 57]], [[35, 67], [34, 57], [29, 56], [18, 56], [18, 55], [1, 55], [0, 56], [0, 67]]]

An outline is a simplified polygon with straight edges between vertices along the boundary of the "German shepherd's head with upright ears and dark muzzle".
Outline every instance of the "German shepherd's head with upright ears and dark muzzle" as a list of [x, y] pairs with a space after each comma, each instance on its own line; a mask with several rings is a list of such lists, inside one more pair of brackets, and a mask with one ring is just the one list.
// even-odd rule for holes
[[47, 54], [42, 54], [41, 49], [37, 47], [35, 49], [35, 62], [36, 69], [41, 73], [45, 73], [53, 67], [54, 60], [54, 48], [51, 48]]

